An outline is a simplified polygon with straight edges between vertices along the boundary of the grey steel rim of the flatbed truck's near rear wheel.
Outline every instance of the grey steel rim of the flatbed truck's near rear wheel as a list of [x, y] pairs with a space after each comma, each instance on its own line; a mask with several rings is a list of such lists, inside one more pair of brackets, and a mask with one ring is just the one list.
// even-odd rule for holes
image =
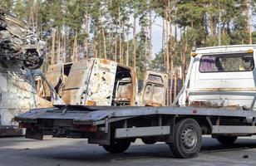
[[185, 129], [181, 134], [181, 140], [186, 149], [193, 149], [197, 143], [197, 136], [194, 129]]

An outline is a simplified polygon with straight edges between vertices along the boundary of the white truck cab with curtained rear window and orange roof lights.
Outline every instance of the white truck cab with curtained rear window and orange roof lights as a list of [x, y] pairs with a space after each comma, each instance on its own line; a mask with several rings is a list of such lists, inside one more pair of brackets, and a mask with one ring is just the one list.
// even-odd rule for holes
[[191, 53], [179, 105], [256, 110], [256, 45], [213, 46]]

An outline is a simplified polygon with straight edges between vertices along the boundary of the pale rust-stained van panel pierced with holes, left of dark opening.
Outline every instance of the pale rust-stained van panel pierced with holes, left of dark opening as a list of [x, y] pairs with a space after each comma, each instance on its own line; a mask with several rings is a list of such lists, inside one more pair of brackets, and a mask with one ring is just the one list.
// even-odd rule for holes
[[96, 58], [74, 62], [62, 99], [68, 105], [111, 105], [116, 66]]

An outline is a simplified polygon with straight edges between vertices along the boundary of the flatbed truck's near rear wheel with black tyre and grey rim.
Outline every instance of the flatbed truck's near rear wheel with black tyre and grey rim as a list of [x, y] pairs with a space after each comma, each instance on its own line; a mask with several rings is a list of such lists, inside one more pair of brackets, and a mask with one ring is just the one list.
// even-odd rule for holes
[[193, 158], [199, 153], [202, 141], [202, 131], [193, 119], [181, 120], [175, 125], [173, 143], [170, 150], [180, 159]]

